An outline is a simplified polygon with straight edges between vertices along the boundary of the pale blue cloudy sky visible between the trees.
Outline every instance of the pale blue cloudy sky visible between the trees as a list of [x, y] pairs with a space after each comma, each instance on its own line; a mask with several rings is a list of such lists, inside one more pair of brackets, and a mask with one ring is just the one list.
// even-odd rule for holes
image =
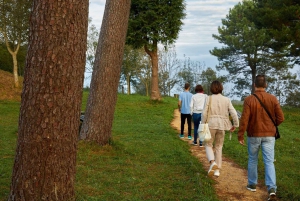
[[[98, 30], [101, 28], [105, 2], [105, 0], [90, 0], [89, 17]], [[177, 57], [183, 59], [185, 55], [191, 61], [201, 62], [205, 67], [215, 69], [218, 60], [209, 53], [209, 50], [221, 47], [222, 44], [219, 44], [212, 34], [218, 34], [218, 26], [222, 25], [221, 20], [226, 18], [229, 9], [240, 0], [186, 0], [185, 2], [186, 18], [175, 42]]]

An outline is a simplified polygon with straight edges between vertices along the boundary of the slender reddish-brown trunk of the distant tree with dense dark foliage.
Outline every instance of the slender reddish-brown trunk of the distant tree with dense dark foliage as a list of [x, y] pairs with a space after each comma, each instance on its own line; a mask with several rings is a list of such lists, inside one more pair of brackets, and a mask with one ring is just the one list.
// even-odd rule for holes
[[157, 55], [157, 45], [156, 48], [154, 48], [152, 51], [149, 50], [145, 46], [146, 53], [151, 58], [151, 65], [152, 65], [152, 81], [151, 81], [151, 100], [161, 100], [161, 95], [159, 92], [159, 86], [158, 86], [158, 55]]

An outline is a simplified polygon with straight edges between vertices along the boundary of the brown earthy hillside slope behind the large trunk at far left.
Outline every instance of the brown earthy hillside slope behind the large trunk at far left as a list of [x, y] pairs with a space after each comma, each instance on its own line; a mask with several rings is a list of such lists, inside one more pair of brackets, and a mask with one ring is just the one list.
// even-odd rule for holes
[[[20, 83], [23, 82], [22, 80], [19, 81]], [[21, 101], [21, 91], [21, 87], [14, 87], [14, 77], [12, 73], [0, 70], [0, 100]]]

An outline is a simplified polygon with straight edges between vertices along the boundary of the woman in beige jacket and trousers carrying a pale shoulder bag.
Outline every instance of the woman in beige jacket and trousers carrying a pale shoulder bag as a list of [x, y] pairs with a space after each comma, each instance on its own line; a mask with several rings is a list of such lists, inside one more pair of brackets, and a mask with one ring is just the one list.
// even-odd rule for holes
[[[239, 126], [239, 119], [231, 100], [222, 95], [223, 85], [221, 82], [213, 81], [210, 85], [210, 91], [212, 95], [208, 96], [202, 113], [202, 121], [207, 121], [211, 133], [211, 139], [205, 142], [205, 151], [210, 163], [208, 175], [219, 177], [222, 168], [225, 131], [233, 132]], [[229, 114], [232, 117], [233, 125], [229, 119]]]

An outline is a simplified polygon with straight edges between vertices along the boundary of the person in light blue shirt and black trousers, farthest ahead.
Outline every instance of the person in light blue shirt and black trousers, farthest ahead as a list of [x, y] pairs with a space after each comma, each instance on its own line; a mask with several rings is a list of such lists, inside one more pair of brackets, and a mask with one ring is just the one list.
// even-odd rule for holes
[[184, 138], [184, 124], [185, 120], [188, 123], [188, 139], [192, 139], [192, 116], [190, 111], [190, 102], [192, 99], [193, 94], [190, 92], [190, 84], [185, 83], [184, 85], [184, 92], [181, 92], [179, 95], [178, 101], [178, 109], [180, 111], [180, 119], [181, 119], [181, 131], [180, 131], [180, 138]]

